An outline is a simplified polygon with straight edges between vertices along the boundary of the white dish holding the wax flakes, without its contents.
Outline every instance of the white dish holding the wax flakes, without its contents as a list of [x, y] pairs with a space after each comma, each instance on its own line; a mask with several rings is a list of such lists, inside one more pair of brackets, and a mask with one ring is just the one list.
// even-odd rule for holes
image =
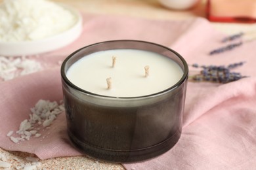
[[82, 31], [82, 17], [81, 14], [67, 5], [61, 5], [65, 9], [70, 10], [75, 16], [77, 16], [77, 22], [70, 29], [54, 35], [53, 37], [47, 37], [36, 41], [20, 41], [20, 42], [3, 42], [0, 41], [0, 55], [2, 56], [27, 56], [33, 54], [41, 54], [44, 52], [50, 52], [58, 48], [62, 48], [81, 35]]

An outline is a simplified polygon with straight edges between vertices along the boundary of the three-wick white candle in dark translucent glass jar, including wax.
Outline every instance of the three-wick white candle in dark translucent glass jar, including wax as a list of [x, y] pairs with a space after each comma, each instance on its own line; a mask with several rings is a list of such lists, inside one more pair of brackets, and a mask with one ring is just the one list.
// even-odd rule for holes
[[188, 66], [175, 51], [144, 41], [85, 46], [62, 63], [68, 135], [98, 159], [154, 158], [179, 140]]

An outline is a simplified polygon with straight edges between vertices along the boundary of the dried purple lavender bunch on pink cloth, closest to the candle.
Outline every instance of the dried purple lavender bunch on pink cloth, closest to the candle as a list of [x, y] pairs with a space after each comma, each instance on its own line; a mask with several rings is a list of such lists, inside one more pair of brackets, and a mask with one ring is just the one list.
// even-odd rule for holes
[[241, 75], [241, 73], [232, 72], [232, 69], [244, 65], [245, 62], [233, 63], [228, 66], [217, 66], [217, 65], [198, 65], [194, 63], [191, 65], [194, 68], [201, 69], [200, 73], [190, 76], [195, 82], [217, 82], [217, 83], [228, 83], [247, 76]]

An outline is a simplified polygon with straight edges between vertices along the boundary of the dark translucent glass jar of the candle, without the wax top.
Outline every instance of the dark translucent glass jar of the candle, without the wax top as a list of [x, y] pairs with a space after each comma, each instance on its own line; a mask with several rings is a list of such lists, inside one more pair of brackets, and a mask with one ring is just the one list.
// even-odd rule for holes
[[[70, 82], [66, 73], [75, 61], [113, 49], [161, 54], [181, 67], [182, 77], [161, 92], [137, 97], [99, 95]], [[72, 143], [89, 156], [112, 162], [141, 161], [167, 152], [179, 141], [188, 66], [174, 50], [144, 41], [99, 42], [68, 56], [62, 63], [61, 75], [68, 135]]]

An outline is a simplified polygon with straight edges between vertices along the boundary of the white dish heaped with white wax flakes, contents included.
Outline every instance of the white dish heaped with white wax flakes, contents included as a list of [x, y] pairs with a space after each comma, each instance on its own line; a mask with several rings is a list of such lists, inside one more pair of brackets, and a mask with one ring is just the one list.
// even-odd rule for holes
[[0, 55], [50, 52], [74, 42], [81, 31], [81, 14], [68, 5], [47, 0], [0, 4]]

